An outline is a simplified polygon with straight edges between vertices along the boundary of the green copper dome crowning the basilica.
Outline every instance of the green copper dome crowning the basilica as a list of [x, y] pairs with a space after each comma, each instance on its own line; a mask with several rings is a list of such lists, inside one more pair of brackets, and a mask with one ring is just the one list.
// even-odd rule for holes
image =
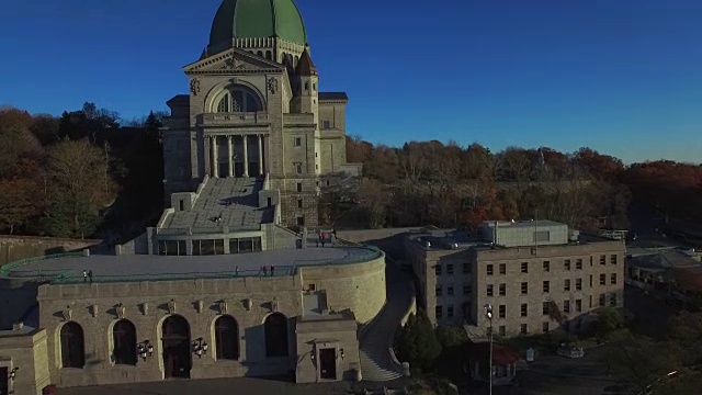
[[303, 16], [293, 0], [224, 0], [212, 22], [210, 46], [229, 46], [235, 37], [307, 43]]

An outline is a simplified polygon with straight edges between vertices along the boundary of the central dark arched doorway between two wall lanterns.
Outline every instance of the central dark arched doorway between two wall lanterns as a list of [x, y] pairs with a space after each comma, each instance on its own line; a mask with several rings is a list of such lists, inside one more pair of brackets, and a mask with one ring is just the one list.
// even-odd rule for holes
[[190, 325], [181, 316], [169, 316], [161, 325], [163, 374], [166, 379], [190, 377]]

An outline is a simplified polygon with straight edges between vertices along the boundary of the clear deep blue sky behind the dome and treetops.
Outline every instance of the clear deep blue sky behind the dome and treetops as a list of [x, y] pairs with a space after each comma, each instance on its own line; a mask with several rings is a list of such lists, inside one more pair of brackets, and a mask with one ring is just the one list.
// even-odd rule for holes
[[[219, 1], [9, 1], [0, 104], [165, 110]], [[700, 0], [297, 4], [320, 88], [349, 93], [350, 135], [702, 160]]]

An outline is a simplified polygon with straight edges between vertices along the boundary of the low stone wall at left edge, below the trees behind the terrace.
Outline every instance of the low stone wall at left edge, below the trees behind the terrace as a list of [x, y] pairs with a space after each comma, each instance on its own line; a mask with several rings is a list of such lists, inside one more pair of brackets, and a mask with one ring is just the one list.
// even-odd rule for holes
[[0, 266], [24, 258], [80, 250], [102, 240], [58, 237], [0, 236]]

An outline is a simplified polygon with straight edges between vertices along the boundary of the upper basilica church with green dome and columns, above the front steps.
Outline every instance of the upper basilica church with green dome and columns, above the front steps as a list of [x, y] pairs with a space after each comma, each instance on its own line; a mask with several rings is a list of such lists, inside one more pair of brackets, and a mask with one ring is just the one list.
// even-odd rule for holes
[[225, 0], [210, 44], [184, 67], [190, 94], [168, 101], [167, 202], [204, 180], [260, 178], [285, 226], [317, 224], [319, 187], [346, 160], [343, 92], [322, 92], [291, 0]]

